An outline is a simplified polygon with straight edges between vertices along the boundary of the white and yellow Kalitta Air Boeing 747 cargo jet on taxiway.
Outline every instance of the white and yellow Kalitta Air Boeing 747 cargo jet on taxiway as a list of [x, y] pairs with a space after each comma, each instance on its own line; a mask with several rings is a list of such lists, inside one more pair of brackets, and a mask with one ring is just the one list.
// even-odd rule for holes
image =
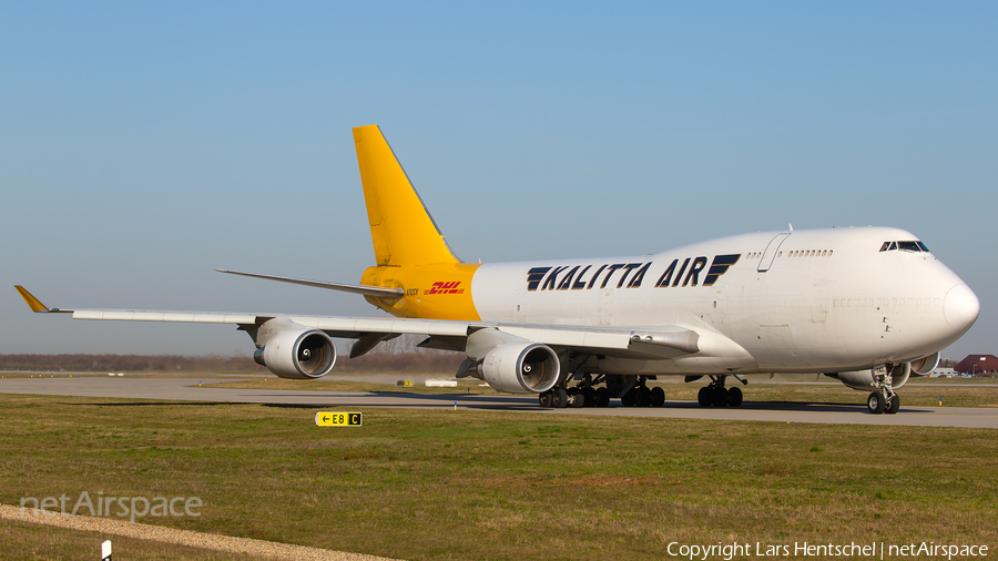
[[458, 377], [541, 407], [661, 406], [659, 376], [710, 380], [700, 405], [737, 407], [745, 375], [821, 373], [869, 391], [873, 414], [974, 325], [974, 292], [914, 234], [890, 227], [744, 234], [654, 255], [472, 264], [458, 259], [377, 125], [354, 129], [376, 265], [360, 284], [223, 271], [345, 290], [395, 317], [49, 308], [77, 319], [235, 324], [284, 378], [319, 378], [401, 334], [464, 353]]

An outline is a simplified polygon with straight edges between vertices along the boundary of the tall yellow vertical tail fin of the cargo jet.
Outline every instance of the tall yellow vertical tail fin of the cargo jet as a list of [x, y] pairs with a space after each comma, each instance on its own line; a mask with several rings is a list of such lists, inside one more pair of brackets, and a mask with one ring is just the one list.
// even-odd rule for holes
[[460, 263], [378, 125], [354, 129], [354, 143], [377, 264]]

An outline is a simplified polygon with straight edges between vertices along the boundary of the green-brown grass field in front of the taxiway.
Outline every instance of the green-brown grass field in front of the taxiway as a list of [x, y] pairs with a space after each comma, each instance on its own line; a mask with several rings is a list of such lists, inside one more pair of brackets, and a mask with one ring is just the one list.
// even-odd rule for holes
[[196, 496], [200, 518], [142, 521], [401, 559], [998, 545], [994, 430], [359, 410], [0, 395], [0, 501]]

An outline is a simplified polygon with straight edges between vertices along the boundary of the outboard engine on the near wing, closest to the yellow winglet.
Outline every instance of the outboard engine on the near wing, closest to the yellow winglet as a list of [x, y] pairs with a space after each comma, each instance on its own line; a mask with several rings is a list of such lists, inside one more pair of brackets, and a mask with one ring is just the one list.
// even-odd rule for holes
[[322, 378], [336, 364], [336, 345], [318, 329], [286, 329], [256, 349], [253, 359], [281, 378]]

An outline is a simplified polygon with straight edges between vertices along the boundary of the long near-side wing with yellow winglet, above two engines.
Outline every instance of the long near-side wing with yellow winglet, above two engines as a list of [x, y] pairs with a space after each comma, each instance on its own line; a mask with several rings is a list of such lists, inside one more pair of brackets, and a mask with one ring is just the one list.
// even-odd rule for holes
[[[680, 326], [653, 328], [591, 327], [566, 325], [507, 324], [397, 317], [345, 317], [293, 314], [256, 314], [227, 312], [177, 312], [143, 309], [50, 308], [21, 286], [18, 292], [35, 313], [72, 314], [73, 319], [119, 322], [176, 322], [192, 324], [234, 324], [253, 332], [275, 318], [286, 318], [302, 327], [319, 329], [330, 337], [364, 339], [373, 344], [390, 336], [425, 335], [422, 346], [464, 350], [468, 336], [481, 329], [496, 329], [507, 335], [549, 345], [556, 349], [577, 350], [623, 358], [675, 358], [700, 350], [700, 335]], [[359, 349], [358, 349], [359, 350]]]

